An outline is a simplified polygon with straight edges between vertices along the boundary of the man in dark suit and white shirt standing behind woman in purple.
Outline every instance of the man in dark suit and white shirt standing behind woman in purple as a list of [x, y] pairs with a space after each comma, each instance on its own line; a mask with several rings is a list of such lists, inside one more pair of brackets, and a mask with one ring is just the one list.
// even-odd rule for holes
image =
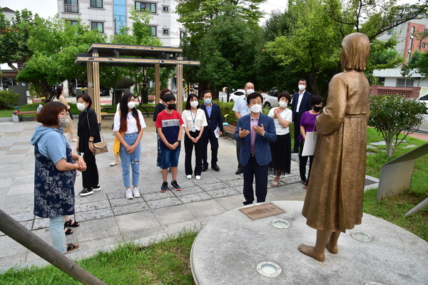
[[300, 119], [305, 111], [312, 109], [310, 105], [312, 93], [306, 91], [306, 87], [306, 79], [300, 79], [299, 91], [292, 96], [291, 111], [292, 122], [294, 123], [294, 147], [291, 152], [299, 152]]

